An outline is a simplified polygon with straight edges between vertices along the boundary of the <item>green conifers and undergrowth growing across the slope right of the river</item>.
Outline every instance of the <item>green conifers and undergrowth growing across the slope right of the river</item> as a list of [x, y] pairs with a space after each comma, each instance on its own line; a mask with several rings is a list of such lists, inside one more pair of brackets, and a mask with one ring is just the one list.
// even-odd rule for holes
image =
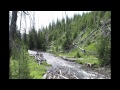
[[[110, 56], [109, 53], [111, 47], [109, 44], [110, 43], [109, 40], [106, 39], [106, 43], [102, 43], [100, 41], [101, 44], [100, 42], [99, 45], [96, 44], [96, 42], [98, 42], [99, 40], [99, 36], [101, 35], [100, 31], [98, 31], [93, 37], [91, 37], [92, 39], [93, 38], [95, 39], [93, 43], [91, 42], [93, 41], [91, 38], [88, 37], [86, 40], [84, 40], [84, 38], [88, 36], [97, 26], [98, 28], [100, 28], [101, 20], [103, 19], [108, 20], [110, 18], [111, 18], [110, 11], [92, 11], [86, 14], [83, 13], [83, 15], [76, 14], [74, 15], [73, 18], [66, 17], [66, 23], [64, 18], [61, 21], [57, 20], [56, 24], [55, 23], [53, 23], [53, 25], [50, 24], [50, 26], [48, 27], [48, 31], [50, 31], [48, 34], [49, 36], [48, 43], [51, 44], [51, 42], [54, 42], [54, 44], [52, 44], [52, 47], [50, 48], [53, 49], [53, 51], [56, 53], [59, 52], [59, 49], [61, 51], [70, 50], [69, 53], [68, 52], [59, 53], [60, 55], [63, 56], [65, 55], [67, 57], [79, 57], [79, 55], [81, 57], [89, 57], [90, 56], [89, 53], [83, 54], [82, 51], [79, 51], [78, 53], [79, 48], [74, 49], [73, 48], [74, 46], [70, 47], [74, 39], [76, 39], [76, 37], [81, 33], [81, 31], [83, 31], [88, 26], [88, 28], [86, 29], [87, 31], [83, 34], [83, 36], [80, 39], [77, 40], [78, 46], [80, 47], [84, 46], [83, 48], [85, 50], [97, 52], [100, 63], [102, 63], [102, 61], [105, 60], [106, 61], [105, 63], [107, 64], [109, 63], [107, 57]], [[84, 40], [84, 42], [79, 43], [81, 40]], [[96, 47], [96, 45], [99, 49]], [[104, 60], [102, 60], [103, 58]]]

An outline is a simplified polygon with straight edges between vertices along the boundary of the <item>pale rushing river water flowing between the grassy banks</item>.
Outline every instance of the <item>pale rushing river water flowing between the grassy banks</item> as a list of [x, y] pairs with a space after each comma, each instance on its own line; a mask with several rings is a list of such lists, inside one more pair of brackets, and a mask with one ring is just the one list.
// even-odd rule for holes
[[[36, 54], [36, 51], [28, 50], [29, 54]], [[65, 61], [60, 57], [56, 57], [53, 54], [47, 53], [47, 52], [40, 52], [43, 54], [43, 57], [46, 59], [46, 62], [48, 64], [51, 64], [52, 66], [48, 69], [48, 71], [54, 71], [56, 68], [61, 68], [66, 69], [66, 70], [71, 70], [76, 74], [76, 76], [80, 79], [110, 79], [110, 77], [102, 75], [98, 72], [95, 71], [86, 71], [82, 68], [83, 65], [75, 63], [75, 62], [70, 62], [70, 61]]]

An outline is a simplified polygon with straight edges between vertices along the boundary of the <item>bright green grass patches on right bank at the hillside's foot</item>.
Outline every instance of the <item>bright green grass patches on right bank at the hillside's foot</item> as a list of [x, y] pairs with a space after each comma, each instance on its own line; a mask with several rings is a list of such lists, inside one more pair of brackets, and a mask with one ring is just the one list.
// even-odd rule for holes
[[[94, 43], [90, 44], [88, 47], [86, 47], [88, 50], [95, 50], [94, 49]], [[75, 48], [73, 50], [71, 50], [69, 53], [60, 53], [60, 52], [56, 52], [55, 55], [56, 56], [65, 56], [65, 57], [75, 57], [77, 52], [79, 51], [80, 54], [80, 58], [84, 58], [83, 60], [80, 60], [80, 58], [78, 58], [78, 60], [76, 60], [77, 63], [79, 64], [85, 64], [85, 62], [87, 63], [91, 63], [91, 64], [96, 64], [95, 67], [98, 67], [100, 65], [98, 59], [94, 56], [94, 55], [85, 55], [82, 53], [82, 51], [78, 50], [79, 48]]]

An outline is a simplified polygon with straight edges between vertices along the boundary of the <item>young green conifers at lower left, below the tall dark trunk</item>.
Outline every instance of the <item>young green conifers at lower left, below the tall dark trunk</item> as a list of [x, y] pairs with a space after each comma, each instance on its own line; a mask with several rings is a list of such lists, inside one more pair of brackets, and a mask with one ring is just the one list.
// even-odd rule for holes
[[21, 44], [20, 50], [17, 47], [12, 49], [12, 56], [10, 58], [10, 78], [12, 79], [28, 79], [28, 54], [26, 53], [26, 47]]

